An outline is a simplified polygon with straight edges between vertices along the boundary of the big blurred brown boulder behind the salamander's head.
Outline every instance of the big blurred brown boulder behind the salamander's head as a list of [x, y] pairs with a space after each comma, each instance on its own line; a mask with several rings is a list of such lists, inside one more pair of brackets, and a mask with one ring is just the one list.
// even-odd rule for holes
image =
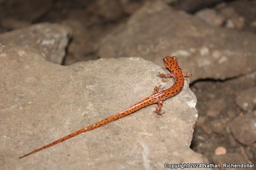
[[255, 34], [208, 25], [157, 1], [145, 4], [125, 26], [108, 35], [99, 55], [139, 55], [158, 65], [163, 65], [163, 56], [175, 55], [183, 71], [192, 72], [190, 80], [194, 81], [225, 79], [256, 70], [256, 62], [252, 62], [255, 45]]

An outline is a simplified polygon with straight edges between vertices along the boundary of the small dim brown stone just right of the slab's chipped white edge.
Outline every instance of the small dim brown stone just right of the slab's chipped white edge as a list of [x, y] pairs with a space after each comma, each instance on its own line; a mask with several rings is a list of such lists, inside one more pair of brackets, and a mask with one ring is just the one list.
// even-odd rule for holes
[[220, 112], [225, 109], [226, 103], [223, 99], [216, 99], [207, 102], [207, 112], [206, 114], [211, 117], [219, 117]]

